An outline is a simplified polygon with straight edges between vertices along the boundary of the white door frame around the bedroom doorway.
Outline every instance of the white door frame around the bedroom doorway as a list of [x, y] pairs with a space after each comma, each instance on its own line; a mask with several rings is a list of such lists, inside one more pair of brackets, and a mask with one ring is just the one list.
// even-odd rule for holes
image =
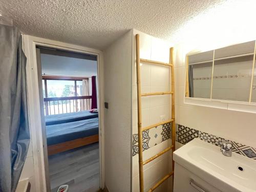
[[38, 75], [36, 62], [36, 46], [87, 53], [97, 56], [98, 65], [98, 107], [99, 107], [99, 157], [100, 157], [100, 187], [104, 188], [104, 81], [103, 81], [103, 53], [102, 51], [82, 46], [67, 44], [60, 41], [23, 35], [24, 52], [27, 57], [27, 90], [29, 105], [29, 123], [34, 161], [34, 176], [36, 191], [46, 192], [50, 188], [48, 176], [48, 156], [46, 135], [42, 134], [40, 103], [38, 89]]

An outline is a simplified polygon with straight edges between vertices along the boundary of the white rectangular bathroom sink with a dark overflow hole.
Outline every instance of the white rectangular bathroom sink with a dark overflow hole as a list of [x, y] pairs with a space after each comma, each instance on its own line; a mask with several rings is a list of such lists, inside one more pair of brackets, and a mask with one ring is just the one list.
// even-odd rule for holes
[[174, 152], [174, 161], [221, 191], [256, 191], [256, 161], [194, 139]]

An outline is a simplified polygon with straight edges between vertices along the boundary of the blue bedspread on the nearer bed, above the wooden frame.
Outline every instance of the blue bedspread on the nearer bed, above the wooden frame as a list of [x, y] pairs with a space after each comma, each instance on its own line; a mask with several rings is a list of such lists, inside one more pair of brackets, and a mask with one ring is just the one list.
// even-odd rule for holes
[[98, 134], [98, 118], [46, 126], [47, 145]]

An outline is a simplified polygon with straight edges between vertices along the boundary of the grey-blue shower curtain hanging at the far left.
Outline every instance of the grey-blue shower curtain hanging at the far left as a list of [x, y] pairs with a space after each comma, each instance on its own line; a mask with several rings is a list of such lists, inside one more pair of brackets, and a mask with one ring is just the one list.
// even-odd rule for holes
[[16, 27], [0, 25], [0, 192], [14, 192], [30, 141], [26, 56]]

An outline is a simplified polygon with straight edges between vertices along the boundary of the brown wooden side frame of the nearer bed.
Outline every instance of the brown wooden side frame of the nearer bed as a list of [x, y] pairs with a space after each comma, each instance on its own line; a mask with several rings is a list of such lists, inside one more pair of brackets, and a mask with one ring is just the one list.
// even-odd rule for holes
[[80, 146], [86, 146], [88, 144], [91, 143], [96, 143], [99, 141], [99, 135], [92, 135], [89, 137], [83, 137], [83, 138], [79, 138], [79, 139], [75, 139], [75, 140], [71, 140], [71, 141], [66, 141], [63, 143], [58, 143], [58, 144], [54, 144], [54, 145], [48, 145], [47, 149], [48, 149], [48, 156], [50, 155], [54, 155], [60, 152], [65, 152], [68, 150], [73, 150], [73, 148], [77, 148]]

